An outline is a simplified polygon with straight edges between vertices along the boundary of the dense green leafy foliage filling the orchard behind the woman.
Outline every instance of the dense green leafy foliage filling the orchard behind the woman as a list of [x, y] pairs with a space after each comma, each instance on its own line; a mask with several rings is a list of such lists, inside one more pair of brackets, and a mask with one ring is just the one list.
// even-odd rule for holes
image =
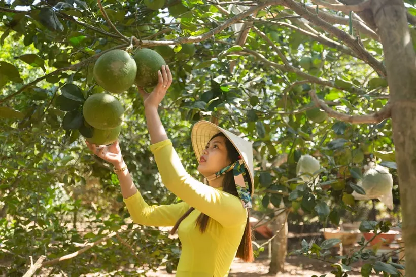
[[[291, 9], [264, 3], [258, 4], [264, 9], [255, 17], [243, 17], [244, 28], [249, 23], [255, 26], [245, 44], [237, 41], [244, 29], [227, 22], [236, 16], [235, 10], [224, 13], [209, 1], [172, 0], [154, 11], [142, 2], [108, 0], [103, 3], [105, 11], [124, 37], [107, 25], [95, 1], [1, 4], [0, 259], [5, 262], [0, 270], [21, 274], [27, 270], [29, 256], [46, 255], [52, 260], [122, 226], [132, 228], [112, 168], [88, 153], [80, 124], [65, 127], [63, 120], [71, 115], [73, 120], [66, 122], [74, 123], [73, 111], [82, 110], [84, 99], [103, 92], [93, 77], [99, 55], [115, 48], [133, 53], [141, 40], [143, 47], [158, 51], [154, 46], [173, 41], [175, 54], [164, 57], [175, 82], [160, 113], [194, 176], [190, 127], [201, 119], [219, 119], [222, 127], [253, 141], [258, 212], [270, 213], [270, 207], [283, 202], [292, 211], [289, 220], [293, 222], [338, 226], [365, 218], [361, 204], [344, 201], [345, 195], [360, 193], [356, 183], [366, 160], [348, 159], [356, 149], [362, 149], [366, 159], [375, 155], [380, 164], [391, 168], [394, 203], [400, 203], [390, 120], [357, 125], [327, 117], [315, 123], [306, 115], [316, 108], [308, 94], [311, 89], [341, 113], [378, 110], [388, 100], [386, 78], [322, 26], [314, 25], [325, 39], [305, 32], [304, 23]], [[416, 11], [410, 6], [410, 12]], [[339, 29], [349, 32], [350, 28], [340, 25]], [[359, 34], [367, 51], [383, 60], [382, 45], [362, 30]], [[132, 39], [133, 47], [132, 36], [137, 38]], [[203, 39], [195, 39], [198, 36]], [[194, 40], [181, 41], [187, 37]], [[136, 88], [118, 97], [126, 115], [120, 145], [136, 185], [149, 204], [176, 201], [157, 175]], [[283, 153], [287, 162], [280, 164]], [[318, 184], [296, 176], [296, 162], [303, 154], [320, 160]], [[397, 208], [390, 215], [396, 217], [393, 223], [400, 222]], [[81, 225], [88, 228], [77, 230]], [[302, 253], [325, 256], [334, 244], [303, 243]], [[139, 272], [129, 270], [129, 264], [143, 273], [176, 261], [178, 254], [177, 240], [156, 228], [140, 226], [42, 270], [75, 275], [120, 270], [117, 274], [129, 275]], [[367, 254], [362, 250], [342, 258], [342, 263], [333, 264], [336, 274], [346, 273], [351, 263]], [[401, 266], [374, 263], [362, 272], [373, 268], [394, 275], [392, 267]]]

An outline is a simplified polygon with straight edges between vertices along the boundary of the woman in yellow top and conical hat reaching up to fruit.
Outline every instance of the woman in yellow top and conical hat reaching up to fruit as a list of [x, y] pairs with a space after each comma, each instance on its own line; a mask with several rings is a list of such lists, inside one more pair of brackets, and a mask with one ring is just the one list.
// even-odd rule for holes
[[114, 165], [124, 202], [133, 221], [149, 226], [174, 226], [182, 243], [176, 276], [223, 277], [234, 257], [253, 260], [249, 209], [253, 194], [252, 144], [227, 130], [199, 121], [191, 133], [198, 171], [209, 185], [191, 177], [168, 139], [158, 106], [172, 83], [168, 66], [159, 83], [144, 98], [151, 146], [164, 185], [183, 202], [149, 206], [136, 189], [123, 161], [118, 141], [90, 150]]

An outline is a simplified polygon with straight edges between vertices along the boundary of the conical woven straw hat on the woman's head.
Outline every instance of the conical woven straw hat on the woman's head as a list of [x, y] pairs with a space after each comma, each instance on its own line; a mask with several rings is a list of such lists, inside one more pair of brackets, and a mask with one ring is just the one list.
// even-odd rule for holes
[[248, 169], [248, 174], [250, 177], [250, 194], [254, 193], [254, 167], [253, 167], [253, 146], [249, 141], [246, 141], [233, 133], [218, 127], [217, 125], [209, 121], [198, 121], [192, 127], [191, 132], [191, 141], [192, 148], [194, 150], [197, 161], [201, 159], [201, 155], [205, 146], [210, 142], [211, 138], [218, 134], [223, 133], [228, 140], [234, 145], [238, 153], [242, 157], [246, 169]]

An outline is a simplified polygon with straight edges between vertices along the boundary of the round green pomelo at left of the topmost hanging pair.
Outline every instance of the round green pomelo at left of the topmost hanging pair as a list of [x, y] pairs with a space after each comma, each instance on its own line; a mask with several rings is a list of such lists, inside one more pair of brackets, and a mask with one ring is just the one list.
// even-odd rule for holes
[[133, 85], [137, 67], [126, 51], [115, 49], [98, 58], [93, 72], [98, 85], [109, 92], [121, 93]]

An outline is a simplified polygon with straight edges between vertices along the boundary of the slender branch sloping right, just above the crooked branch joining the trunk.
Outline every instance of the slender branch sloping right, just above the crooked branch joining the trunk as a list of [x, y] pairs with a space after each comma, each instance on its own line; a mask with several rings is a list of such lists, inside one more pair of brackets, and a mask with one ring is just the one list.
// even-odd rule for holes
[[251, 49], [244, 48], [243, 49], [243, 52], [247, 52], [247, 53], [253, 55], [254, 57], [260, 59], [265, 64], [268, 64], [270, 66], [273, 66], [274, 68], [279, 69], [279, 70], [281, 70], [283, 72], [288, 72], [288, 71], [289, 72], [294, 72], [299, 77], [302, 77], [302, 78], [305, 78], [305, 79], [309, 80], [310, 83], [320, 84], [320, 85], [324, 85], [324, 86], [336, 88], [336, 89], [339, 89], [339, 90], [349, 91], [349, 92], [356, 93], [356, 94], [364, 94], [365, 93], [364, 91], [362, 91], [360, 89], [357, 89], [357, 88], [354, 88], [354, 87], [351, 87], [349, 89], [341, 88], [341, 87], [335, 85], [335, 83], [332, 82], [332, 81], [329, 81], [329, 80], [326, 80], [326, 79], [322, 79], [322, 78], [318, 78], [318, 77], [315, 77], [313, 75], [307, 74], [307, 73], [301, 71], [300, 69], [297, 69], [297, 68], [295, 68], [295, 67], [293, 67], [291, 65], [285, 66], [285, 65], [281, 65], [281, 64], [278, 64], [278, 63], [269, 61], [262, 54], [257, 53], [256, 51], [253, 51]]

